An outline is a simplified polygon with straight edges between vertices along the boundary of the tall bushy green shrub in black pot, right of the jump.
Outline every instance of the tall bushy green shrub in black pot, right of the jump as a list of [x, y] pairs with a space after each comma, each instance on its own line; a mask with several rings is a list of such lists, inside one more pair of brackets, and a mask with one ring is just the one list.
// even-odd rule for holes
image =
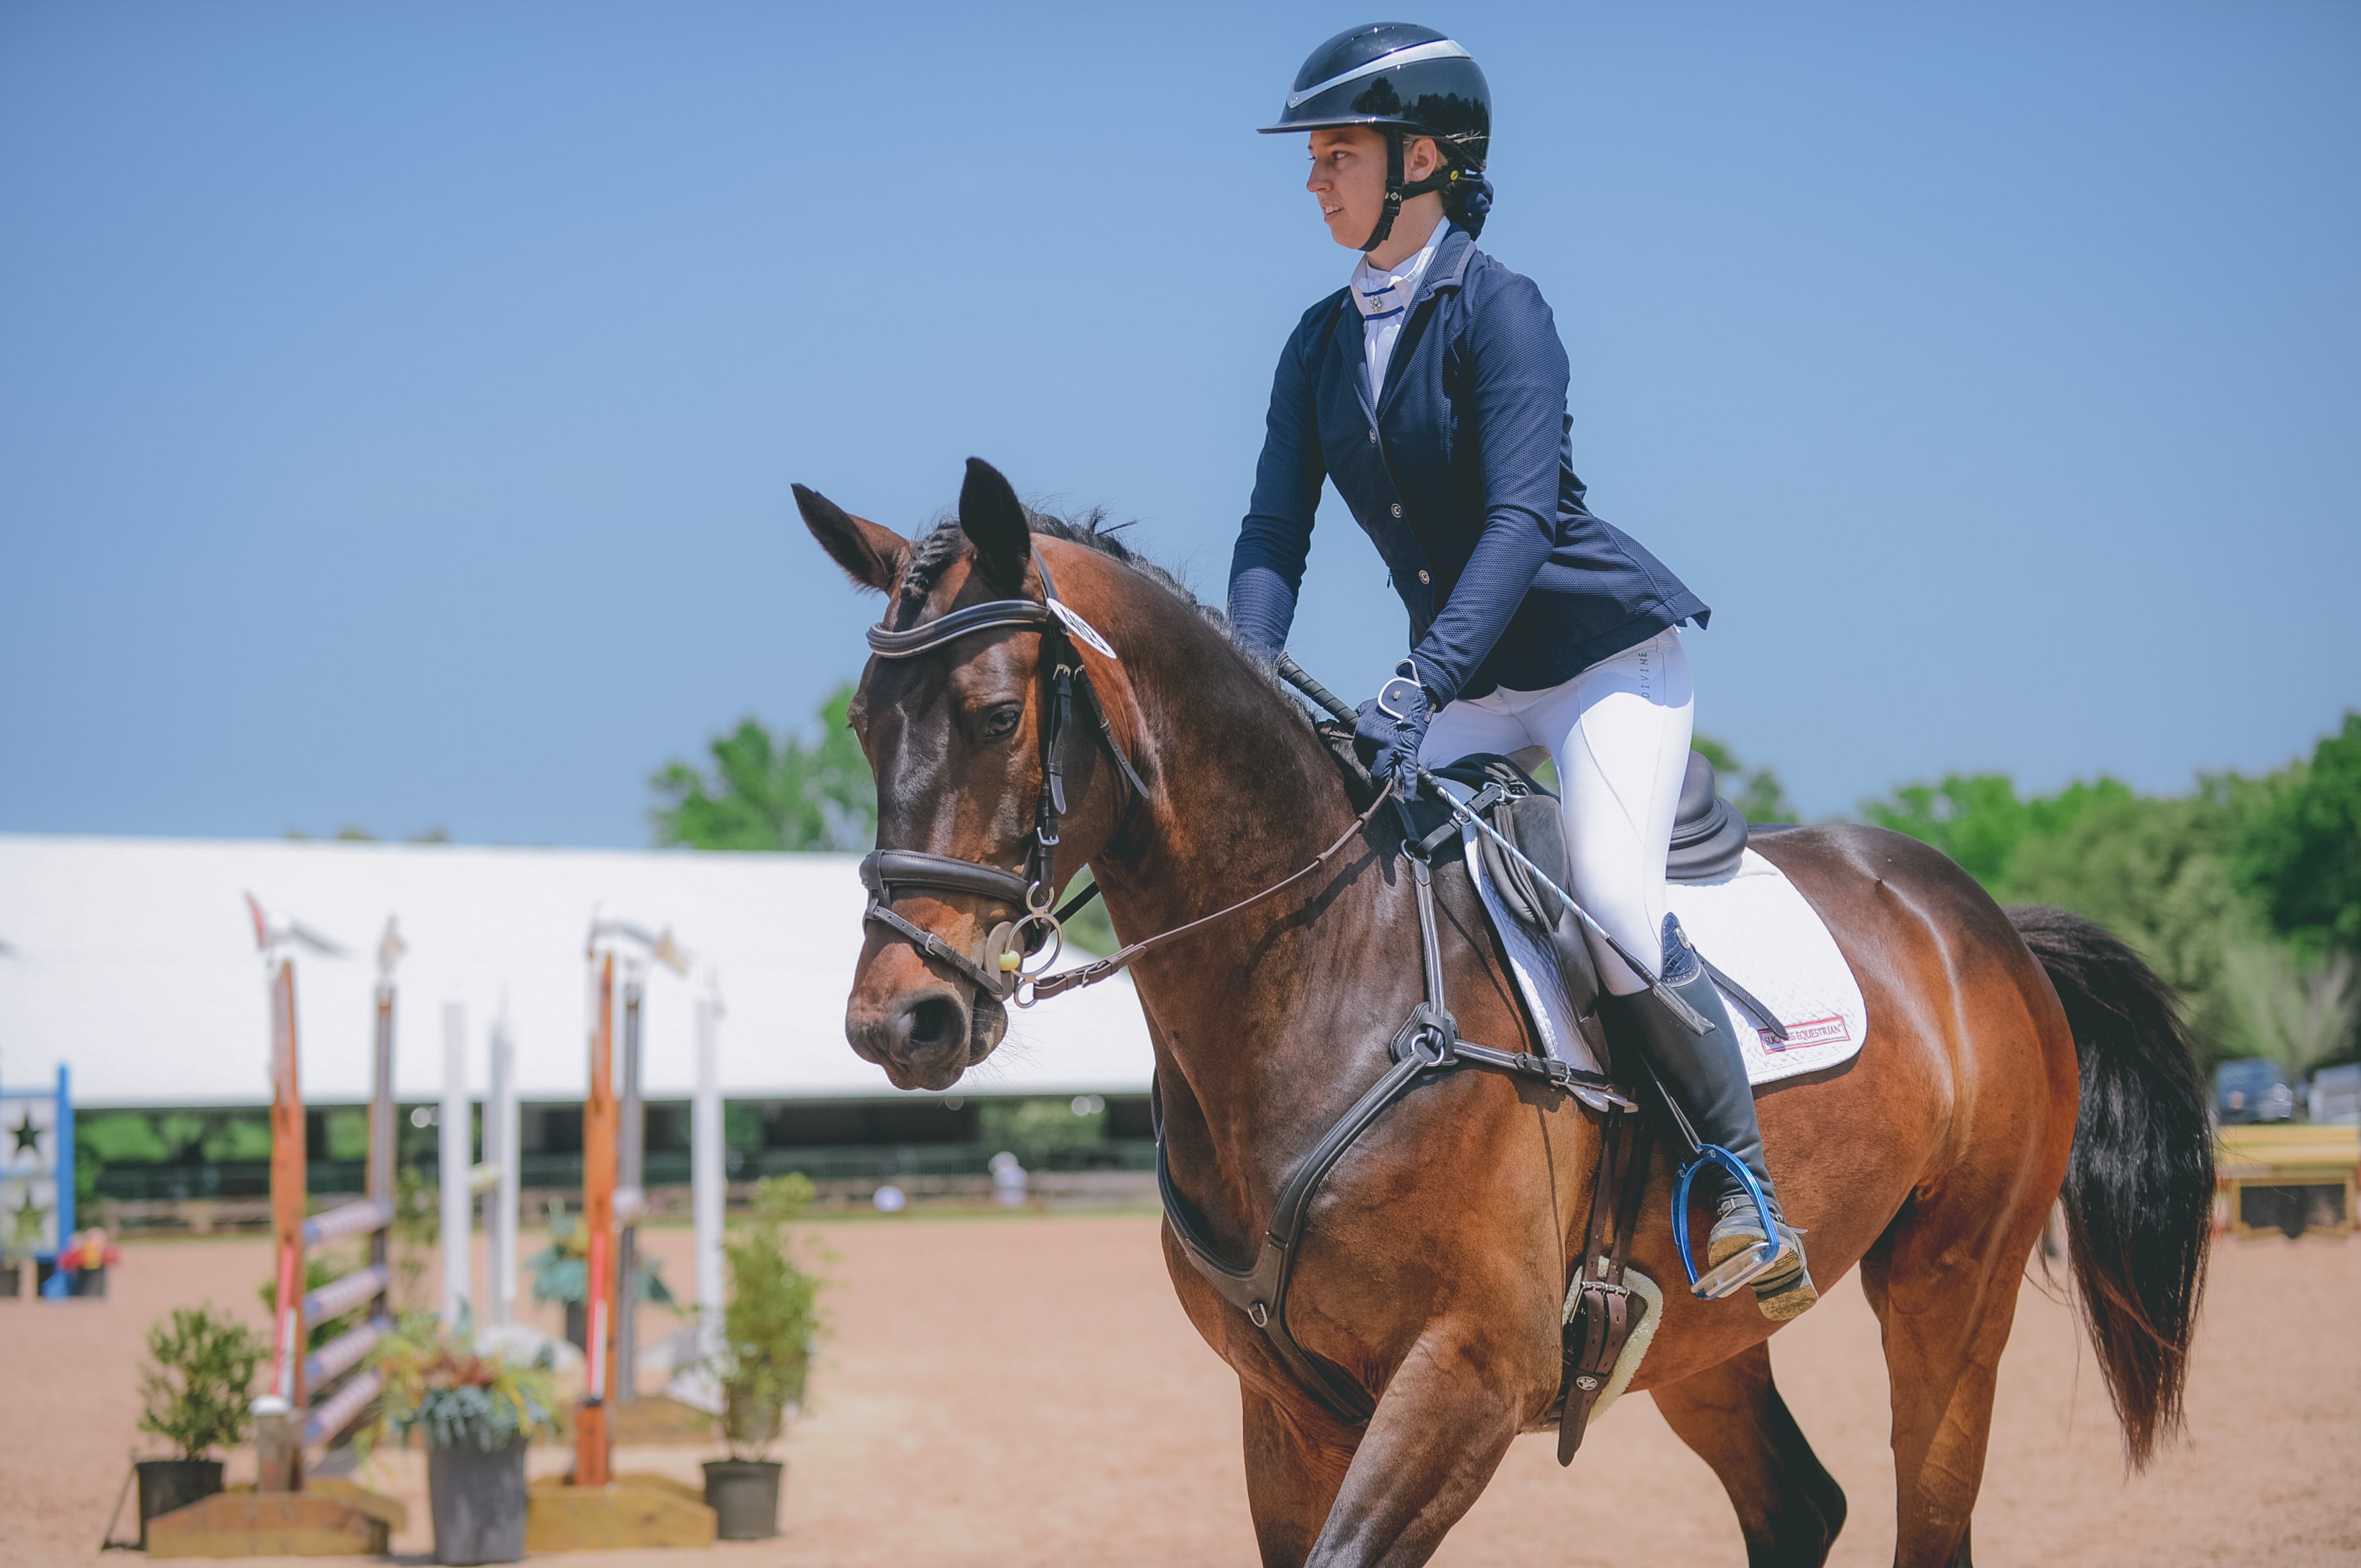
[[706, 1460], [706, 1507], [722, 1540], [779, 1533], [779, 1478], [786, 1469], [770, 1445], [786, 1417], [803, 1405], [812, 1346], [824, 1320], [824, 1280], [796, 1254], [793, 1221], [812, 1203], [800, 1174], [772, 1177], [753, 1188], [753, 1214], [730, 1226], [722, 1257], [730, 1302], [722, 1306], [722, 1349], [713, 1372], [722, 1386], [727, 1460]]

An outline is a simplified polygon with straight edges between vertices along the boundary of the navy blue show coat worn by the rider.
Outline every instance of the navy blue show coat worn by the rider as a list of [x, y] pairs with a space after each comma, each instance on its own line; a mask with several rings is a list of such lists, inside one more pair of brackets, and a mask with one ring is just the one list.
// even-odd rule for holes
[[1445, 703], [1546, 691], [1707, 606], [1582, 505], [1568, 363], [1542, 292], [1452, 229], [1372, 398], [1360, 311], [1336, 290], [1296, 325], [1270, 387], [1254, 502], [1230, 556], [1230, 622], [1287, 646], [1320, 481], [1332, 479], [1410, 611], [1419, 679]]

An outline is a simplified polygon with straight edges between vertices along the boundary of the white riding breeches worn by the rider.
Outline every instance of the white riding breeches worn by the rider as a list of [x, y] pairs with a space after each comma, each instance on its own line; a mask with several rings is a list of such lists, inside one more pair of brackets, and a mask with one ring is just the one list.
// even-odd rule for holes
[[[1419, 762], [1469, 752], [1549, 750], [1565, 806], [1570, 891], [1643, 962], [1665, 946], [1665, 851], [1688, 771], [1695, 693], [1681, 630], [1603, 658], [1549, 691], [1492, 691], [1452, 703], [1426, 729]], [[1643, 981], [1591, 934], [1598, 979], [1615, 995]]]

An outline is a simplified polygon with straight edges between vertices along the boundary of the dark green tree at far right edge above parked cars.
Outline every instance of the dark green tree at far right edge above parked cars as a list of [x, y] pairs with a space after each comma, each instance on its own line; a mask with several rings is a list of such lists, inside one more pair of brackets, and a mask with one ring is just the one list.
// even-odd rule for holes
[[2238, 872], [2307, 953], [2361, 953], [2361, 712], [2274, 780], [2248, 823]]

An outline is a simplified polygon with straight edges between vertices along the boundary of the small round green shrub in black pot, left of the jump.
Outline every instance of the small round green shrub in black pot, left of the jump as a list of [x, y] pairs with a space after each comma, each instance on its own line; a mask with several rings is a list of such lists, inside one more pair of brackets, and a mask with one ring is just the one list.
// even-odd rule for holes
[[139, 1549], [158, 1514], [222, 1490], [222, 1462], [205, 1455], [246, 1436], [246, 1398], [255, 1368], [269, 1356], [262, 1335], [217, 1316], [212, 1304], [175, 1306], [149, 1327], [149, 1361], [139, 1379], [139, 1431], [179, 1450], [177, 1460], [139, 1460]]

